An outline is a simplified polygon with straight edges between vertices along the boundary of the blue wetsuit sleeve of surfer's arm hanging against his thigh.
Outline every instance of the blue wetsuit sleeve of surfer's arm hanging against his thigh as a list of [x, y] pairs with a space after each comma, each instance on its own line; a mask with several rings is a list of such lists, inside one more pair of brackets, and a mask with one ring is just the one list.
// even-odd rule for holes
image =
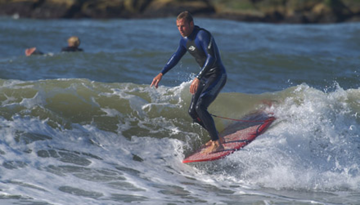
[[206, 31], [199, 32], [199, 42], [202, 46], [207, 58], [204, 65], [201, 68], [200, 73], [196, 76], [198, 79], [201, 79], [208, 70], [210, 70], [216, 62], [216, 55], [215, 55], [215, 47], [213, 46], [214, 39], [212, 38], [211, 34]]

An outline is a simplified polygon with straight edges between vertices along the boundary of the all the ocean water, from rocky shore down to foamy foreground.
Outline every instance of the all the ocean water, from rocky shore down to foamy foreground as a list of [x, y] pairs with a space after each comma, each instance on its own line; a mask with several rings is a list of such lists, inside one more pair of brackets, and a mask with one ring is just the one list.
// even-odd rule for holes
[[[149, 87], [175, 19], [0, 18], [0, 204], [359, 204], [360, 23], [195, 24], [228, 72], [209, 111], [277, 119], [224, 159], [183, 164], [209, 139], [187, 114], [199, 67], [186, 54]], [[85, 52], [60, 53], [72, 35]]]

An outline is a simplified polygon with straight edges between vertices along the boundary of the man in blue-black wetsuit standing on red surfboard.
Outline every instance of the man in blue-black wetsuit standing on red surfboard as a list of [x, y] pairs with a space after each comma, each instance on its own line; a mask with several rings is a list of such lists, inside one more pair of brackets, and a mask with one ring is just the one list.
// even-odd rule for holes
[[222, 145], [224, 141], [219, 138], [215, 122], [207, 111], [207, 108], [224, 87], [227, 78], [219, 49], [210, 32], [194, 25], [193, 17], [188, 11], [177, 16], [176, 25], [182, 36], [179, 46], [162, 71], [155, 76], [150, 87], [158, 88], [163, 75], [172, 69], [188, 51], [201, 67], [200, 72], [190, 84], [192, 99], [189, 115], [210, 135], [211, 141], [206, 144], [207, 148], [204, 153], [220, 152], [224, 150]]

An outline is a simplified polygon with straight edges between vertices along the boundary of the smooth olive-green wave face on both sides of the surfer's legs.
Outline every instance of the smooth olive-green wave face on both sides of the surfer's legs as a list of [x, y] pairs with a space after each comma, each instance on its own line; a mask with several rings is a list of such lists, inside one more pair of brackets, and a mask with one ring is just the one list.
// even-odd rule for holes
[[[91, 124], [102, 130], [121, 132], [119, 125], [130, 122], [161, 121], [163, 117], [170, 122], [176, 119], [180, 123], [176, 126], [181, 126], [190, 119], [188, 82], [157, 90], [148, 85], [87, 79], [1, 80], [0, 83], [1, 116], [7, 120], [14, 116], [37, 117], [46, 119], [53, 128]], [[227, 117], [241, 117], [269, 95], [221, 93], [210, 110]]]

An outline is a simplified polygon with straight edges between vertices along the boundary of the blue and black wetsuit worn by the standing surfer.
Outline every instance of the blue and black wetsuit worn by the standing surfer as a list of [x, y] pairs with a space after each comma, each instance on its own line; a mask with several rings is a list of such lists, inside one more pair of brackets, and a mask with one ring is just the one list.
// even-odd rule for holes
[[164, 75], [172, 69], [188, 51], [201, 67], [196, 76], [200, 84], [193, 95], [189, 108], [189, 115], [195, 122], [203, 126], [212, 141], [219, 139], [215, 122], [207, 108], [215, 100], [226, 83], [226, 71], [220, 59], [219, 49], [210, 32], [194, 26], [188, 37], [180, 39], [176, 52], [171, 56], [161, 73]]

